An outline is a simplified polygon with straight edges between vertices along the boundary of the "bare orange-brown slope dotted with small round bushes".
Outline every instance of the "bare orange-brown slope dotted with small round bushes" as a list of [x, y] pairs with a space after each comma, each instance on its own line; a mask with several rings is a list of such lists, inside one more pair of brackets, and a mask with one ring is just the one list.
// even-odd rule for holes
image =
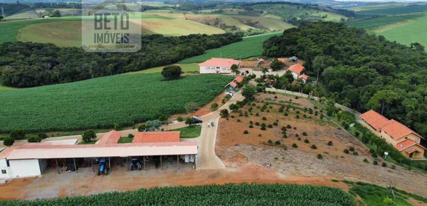
[[374, 159], [368, 148], [316, 105], [292, 95], [259, 94], [254, 104], [230, 113], [228, 120], [220, 119], [215, 153], [231, 168], [270, 164], [272, 171], [283, 176], [391, 184], [427, 195], [424, 183], [406, 181], [426, 179], [425, 173], [397, 165], [392, 169], [389, 162], [382, 167], [382, 159]]

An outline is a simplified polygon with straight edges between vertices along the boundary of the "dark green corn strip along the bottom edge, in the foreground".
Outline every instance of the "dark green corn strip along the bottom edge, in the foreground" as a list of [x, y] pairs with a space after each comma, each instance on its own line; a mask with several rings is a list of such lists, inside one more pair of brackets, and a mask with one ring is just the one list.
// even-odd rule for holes
[[157, 187], [86, 197], [8, 201], [0, 204], [2, 206], [354, 206], [355, 202], [350, 194], [335, 187], [297, 184], [226, 184]]

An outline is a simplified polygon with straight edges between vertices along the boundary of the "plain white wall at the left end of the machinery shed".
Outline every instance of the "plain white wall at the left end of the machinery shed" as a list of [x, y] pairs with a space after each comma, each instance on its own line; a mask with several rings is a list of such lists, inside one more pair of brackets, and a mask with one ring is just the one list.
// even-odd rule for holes
[[40, 176], [40, 164], [38, 159], [9, 160], [11, 178]]

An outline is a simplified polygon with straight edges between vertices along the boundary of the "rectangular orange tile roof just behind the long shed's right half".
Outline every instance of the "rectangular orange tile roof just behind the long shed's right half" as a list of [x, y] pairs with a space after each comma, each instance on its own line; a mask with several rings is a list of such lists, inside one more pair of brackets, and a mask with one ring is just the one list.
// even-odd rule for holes
[[179, 142], [180, 133], [180, 131], [136, 132], [132, 143]]

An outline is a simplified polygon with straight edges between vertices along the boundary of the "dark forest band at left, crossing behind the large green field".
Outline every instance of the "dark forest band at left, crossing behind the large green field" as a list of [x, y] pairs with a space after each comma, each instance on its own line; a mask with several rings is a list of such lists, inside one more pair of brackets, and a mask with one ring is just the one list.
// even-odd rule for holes
[[53, 44], [0, 45], [0, 81], [12, 87], [34, 87], [121, 74], [176, 63], [241, 38], [235, 34], [144, 35], [139, 52], [84, 52]]

